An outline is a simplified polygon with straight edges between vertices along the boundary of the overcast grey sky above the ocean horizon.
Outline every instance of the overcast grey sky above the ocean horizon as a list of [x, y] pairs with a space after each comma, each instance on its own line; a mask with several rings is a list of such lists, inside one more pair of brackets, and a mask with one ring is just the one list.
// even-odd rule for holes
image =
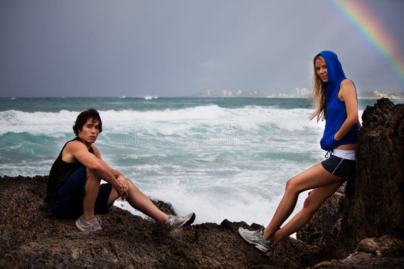
[[[357, 1], [403, 57], [404, 1]], [[359, 92], [404, 91], [327, 1], [0, 0], [0, 96], [189, 96], [311, 88], [337, 53]]]

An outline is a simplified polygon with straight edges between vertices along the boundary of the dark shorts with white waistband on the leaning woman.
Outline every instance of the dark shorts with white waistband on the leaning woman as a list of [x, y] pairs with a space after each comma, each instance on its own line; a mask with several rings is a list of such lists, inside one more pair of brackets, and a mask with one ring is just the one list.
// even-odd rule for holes
[[328, 159], [323, 160], [321, 165], [331, 174], [351, 181], [355, 178], [355, 163], [356, 160], [331, 155]]

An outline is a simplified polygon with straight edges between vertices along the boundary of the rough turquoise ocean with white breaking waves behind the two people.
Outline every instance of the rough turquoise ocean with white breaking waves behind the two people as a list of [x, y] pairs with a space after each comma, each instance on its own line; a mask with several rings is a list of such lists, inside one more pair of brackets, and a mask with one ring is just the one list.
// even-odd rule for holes
[[[375, 102], [359, 99], [360, 118]], [[305, 98], [0, 98], [0, 175], [47, 175], [89, 107], [103, 121], [103, 158], [195, 224], [266, 226], [286, 181], [324, 159], [324, 122], [309, 121]]]

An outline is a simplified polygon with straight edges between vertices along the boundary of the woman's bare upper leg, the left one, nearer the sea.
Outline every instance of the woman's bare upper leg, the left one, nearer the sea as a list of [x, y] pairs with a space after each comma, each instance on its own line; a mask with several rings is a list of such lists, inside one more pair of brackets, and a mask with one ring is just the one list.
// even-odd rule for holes
[[264, 237], [266, 239], [273, 238], [282, 223], [284, 223], [292, 213], [300, 192], [336, 183], [342, 184], [343, 179], [332, 175], [325, 170], [321, 164], [314, 165], [297, 176], [289, 179], [286, 183], [285, 194], [283, 195], [271, 222], [264, 230]]

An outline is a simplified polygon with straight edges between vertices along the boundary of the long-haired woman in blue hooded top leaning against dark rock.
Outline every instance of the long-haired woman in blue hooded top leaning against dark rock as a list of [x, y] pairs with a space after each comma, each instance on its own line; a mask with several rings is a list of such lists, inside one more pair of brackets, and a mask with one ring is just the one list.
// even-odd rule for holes
[[[320, 205], [345, 180], [350, 181], [355, 177], [355, 146], [360, 128], [355, 85], [346, 79], [334, 52], [320, 52], [313, 64], [315, 111], [310, 120], [326, 120], [320, 145], [327, 151], [325, 157], [328, 158], [287, 181], [285, 193], [265, 229], [238, 229], [245, 241], [267, 256], [271, 255], [276, 244], [305, 226]], [[292, 213], [299, 193], [309, 189], [313, 190], [303, 208], [279, 229]]]

